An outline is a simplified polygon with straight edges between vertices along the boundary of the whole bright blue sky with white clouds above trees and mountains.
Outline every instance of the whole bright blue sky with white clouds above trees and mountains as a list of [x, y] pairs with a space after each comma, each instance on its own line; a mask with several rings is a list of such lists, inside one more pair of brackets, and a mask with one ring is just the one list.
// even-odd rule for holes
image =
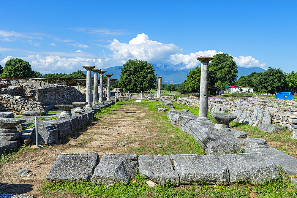
[[23, 58], [42, 74], [71, 73], [132, 58], [179, 70], [228, 53], [238, 66], [297, 71], [296, 11], [296, 0], [0, 0], [0, 65]]

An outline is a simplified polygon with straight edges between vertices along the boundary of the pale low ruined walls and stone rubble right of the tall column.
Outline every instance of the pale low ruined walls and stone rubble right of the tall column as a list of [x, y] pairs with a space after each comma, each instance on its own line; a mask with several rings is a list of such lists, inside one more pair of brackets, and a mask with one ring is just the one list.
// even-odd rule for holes
[[[199, 106], [198, 99], [180, 98], [178, 103]], [[208, 111], [211, 113], [232, 113], [234, 121], [247, 123], [258, 129], [274, 133], [289, 131], [297, 135], [297, 100], [257, 99], [257, 98], [211, 98], [208, 100]], [[279, 124], [282, 127], [273, 125]], [[296, 136], [295, 135], [295, 136]], [[296, 138], [296, 137], [295, 137]]]

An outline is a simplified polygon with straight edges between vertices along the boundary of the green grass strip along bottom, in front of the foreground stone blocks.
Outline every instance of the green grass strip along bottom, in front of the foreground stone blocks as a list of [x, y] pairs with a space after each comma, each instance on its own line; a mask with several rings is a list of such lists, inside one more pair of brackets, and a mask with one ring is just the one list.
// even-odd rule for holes
[[[146, 185], [148, 179], [136, 175], [129, 183], [119, 183], [105, 188], [104, 184], [90, 182], [60, 182], [46, 183], [41, 191], [48, 196], [67, 194], [67, 196], [81, 197], [249, 197], [252, 193], [256, 197], [296, 197], [293, 185], [286, 180], [276, 179], [259, 184], [249, 183], [221, 185], [192, 185], [173, 187], [170, 185], [151, 188]], [[70, 193], [70, 194], [69, 194]]]

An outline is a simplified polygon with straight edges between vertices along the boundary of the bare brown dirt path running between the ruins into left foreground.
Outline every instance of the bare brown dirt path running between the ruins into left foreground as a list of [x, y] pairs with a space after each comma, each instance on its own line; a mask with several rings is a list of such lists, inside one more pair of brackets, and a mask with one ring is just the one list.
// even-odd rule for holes
[[[1, 163], [0, 193], [23, 193], [44, 197], [39, 191], [40, 187], [44, 185], [45, 177], [59, 153], [97, 152], [100, 157], [105, 153], [162, 154], [156, 150], [160, 139], [160, 123], [154, 119], [154, 114], [156, 113], [148, 111], [148, 107], [136, 102], [117, 105], [116, 109], [108, 111], [87, 130], [79, 131], [80, 135], [72, 135], [69, 141], [64, 141], [62, 145], [42, 149], [27, 147], [23, 151], [18, 151], [12, 155], [12, 160]], [[165, 136], [166, 134], [163, 135]], [[165, 141], [162, 138], [162, 141], [164, 145], [174, 144], [174, 140]], [[141, 149], [138, 151], [138, 148]], [[150, 153], [154, 149], [154, 153]], [[29, 169], [28, 174], [31, 176], [21, 177], [13, 174], [21, 169]]]

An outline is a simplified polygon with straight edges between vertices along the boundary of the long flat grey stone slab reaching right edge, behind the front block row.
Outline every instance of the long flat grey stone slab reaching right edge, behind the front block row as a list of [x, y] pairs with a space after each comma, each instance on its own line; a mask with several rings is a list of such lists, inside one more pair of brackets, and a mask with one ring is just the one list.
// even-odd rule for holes
[[297, 175], [297, 159], [275, 148], [245, 148], [246, 153], [263, 153], [288, 175]]

